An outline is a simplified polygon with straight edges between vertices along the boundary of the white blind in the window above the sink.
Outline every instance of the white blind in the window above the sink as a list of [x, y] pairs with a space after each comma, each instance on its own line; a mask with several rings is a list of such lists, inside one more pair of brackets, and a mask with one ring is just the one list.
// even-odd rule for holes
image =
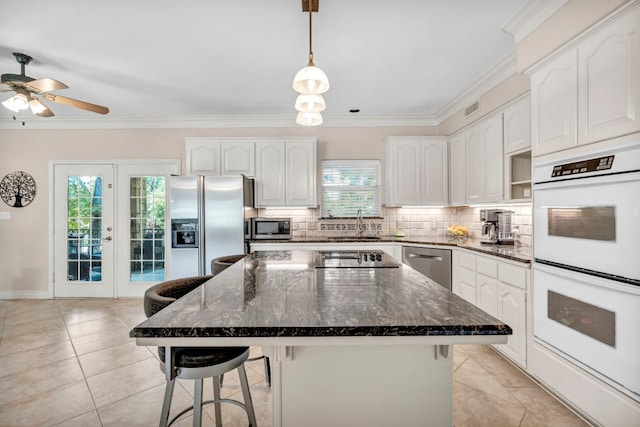
[[323, 218], [380, 217], [380, 160], [323, 160]]

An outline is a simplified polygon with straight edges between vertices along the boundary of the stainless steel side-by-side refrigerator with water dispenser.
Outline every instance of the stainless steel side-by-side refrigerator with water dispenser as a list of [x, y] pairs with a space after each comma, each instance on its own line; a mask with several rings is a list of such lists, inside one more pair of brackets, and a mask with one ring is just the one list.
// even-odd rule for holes
[[211, 274], [211, 260], [245, 253], [245, 211], [253, 180], [172, 176], [169, 181], [171, 279]]

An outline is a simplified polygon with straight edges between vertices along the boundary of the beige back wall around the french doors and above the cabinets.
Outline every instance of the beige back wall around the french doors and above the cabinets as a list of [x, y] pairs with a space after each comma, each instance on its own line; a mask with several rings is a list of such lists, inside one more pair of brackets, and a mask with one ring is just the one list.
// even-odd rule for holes
[[[34, 119], [36, 120], [36, 119]], [[46, 120], [46, 119], [37, 119]], [[317, 136], [321, 159], [384, 158], [390, 135], [433, 135], [434, 128], [249, 128], [150, 130], [30, 130], [0, 131], [0, 177], [23, 170], [37, 186], [34, 201], [24, 208], [0, 203], [0, 294], [48, 292], [49, 163], [52, 160], [181, 159], [185, 164], [187, 136]]]

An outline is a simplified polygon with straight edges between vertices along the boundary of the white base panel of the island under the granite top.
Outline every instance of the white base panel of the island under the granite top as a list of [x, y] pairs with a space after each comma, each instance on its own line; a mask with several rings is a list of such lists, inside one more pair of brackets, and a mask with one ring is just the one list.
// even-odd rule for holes
[[273, 425], [452, 426], [452, 352], [446, 345], [274, 347]]

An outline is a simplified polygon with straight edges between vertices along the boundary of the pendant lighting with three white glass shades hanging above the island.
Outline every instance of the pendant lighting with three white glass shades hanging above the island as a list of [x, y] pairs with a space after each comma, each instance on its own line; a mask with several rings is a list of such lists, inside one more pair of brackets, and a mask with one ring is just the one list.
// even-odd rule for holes
[[313, 32], [312, 12], [318, 11], [319, 0], [302, 0], [302, 11], [309, 11], [309, 63], [298, 71], [293, 78], [293, 89], [300, 93], [296, 99], [295, 107], [300, 113], [296, 117], [296, 123], [302, 126], [317, 126], [322, 124], [320, 111], [326, 108], [322, 93], [329, 90], [329, 79], [320, 68], [313, 63]]

